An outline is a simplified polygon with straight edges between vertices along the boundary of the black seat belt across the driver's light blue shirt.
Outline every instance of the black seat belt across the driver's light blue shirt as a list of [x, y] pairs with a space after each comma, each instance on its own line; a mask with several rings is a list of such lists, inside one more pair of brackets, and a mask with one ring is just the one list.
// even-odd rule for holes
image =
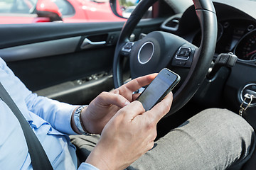
[[50, 161], [44, 151], [41, 143], [39, 142], [36, 134], [33, 132], [30, 125], [28, 125], [27, 120], [22, 115], [21, 111], [18, 109], [16, 104], [14, 103], [11, 96], [8, 94], [4, 86], [0, 82], [0, 98], [14, 113], [19, 123], [21, 124], [21, 128], [23, 130], [23, 134], [26, 138], [26, 143], [28, 145], [28, 152], [31, 156], [31, 164], [34, 170], [51, 170], [53, 166], [51, 166]]

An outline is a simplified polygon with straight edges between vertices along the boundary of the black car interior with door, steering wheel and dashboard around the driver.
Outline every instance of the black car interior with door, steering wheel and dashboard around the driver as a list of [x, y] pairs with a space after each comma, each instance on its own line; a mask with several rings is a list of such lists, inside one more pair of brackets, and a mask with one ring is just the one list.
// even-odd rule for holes
[[[206, 108], [242, 114], [255, 129], [256, 2], [175, 3], [140, 1], [126, 22], [0, 24], [0, 57], [34, 93], [71, 104], [167, 67], [181, 82], [157, 138]], [[256, 152], [243, 169], [255, 167]]]

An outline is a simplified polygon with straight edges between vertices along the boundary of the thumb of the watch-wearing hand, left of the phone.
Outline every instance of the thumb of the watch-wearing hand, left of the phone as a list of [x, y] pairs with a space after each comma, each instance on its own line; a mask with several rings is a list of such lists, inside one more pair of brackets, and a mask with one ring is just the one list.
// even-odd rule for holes
[[127, 106], [129, 104], [129, 101], [123, 96], [108, 92], [102, 92], [95, 99], [97, 99], [97, 102], [99, 102], [103, 106], [115, 105], [119, 108], [123, 108], [124, 106]]

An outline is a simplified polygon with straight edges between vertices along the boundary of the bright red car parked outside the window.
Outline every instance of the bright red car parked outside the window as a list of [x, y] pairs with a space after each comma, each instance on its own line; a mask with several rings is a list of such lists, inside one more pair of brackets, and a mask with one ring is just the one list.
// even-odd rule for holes
[[0, 2], [0, 23], [126, 21], [106, 0], [14, 0]]

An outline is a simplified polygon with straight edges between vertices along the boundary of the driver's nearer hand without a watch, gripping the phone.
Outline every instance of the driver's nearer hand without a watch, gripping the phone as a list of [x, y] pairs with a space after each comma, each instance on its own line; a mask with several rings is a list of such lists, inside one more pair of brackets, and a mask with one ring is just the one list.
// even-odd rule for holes
[[154, 146], [156, 124], [169, 112], [172, 94], [168, 94], [150, 111], [134, 101], [105, 125], [100, 141], [86, 162], [101, 170], [125, 169]]

